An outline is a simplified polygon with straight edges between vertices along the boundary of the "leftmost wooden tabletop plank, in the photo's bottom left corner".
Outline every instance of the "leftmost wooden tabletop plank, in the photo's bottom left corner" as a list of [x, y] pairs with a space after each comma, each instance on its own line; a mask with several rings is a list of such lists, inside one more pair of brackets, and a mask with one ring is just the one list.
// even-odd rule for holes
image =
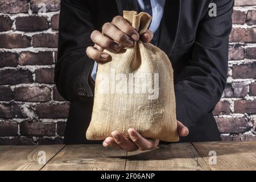
[[64, 145], [49, 146], [0, 146], [0, 171], [38, 171], [44, 164], [38, 162], [38, 152], [46, 152], [46, 162]]

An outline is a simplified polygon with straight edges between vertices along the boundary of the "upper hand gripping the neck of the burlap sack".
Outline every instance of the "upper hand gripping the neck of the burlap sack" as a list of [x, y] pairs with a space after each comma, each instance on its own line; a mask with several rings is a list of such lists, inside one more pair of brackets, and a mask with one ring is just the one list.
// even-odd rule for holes
[[121, 45], [129, 48], [133, 46], [134, 41], [141, 39], [143, 42], [150, 42], [153, 36], [151, 30], [139, 35], [125, 18], [115, 16], [112, 22], [105, 23], [102, 26], [102, 32], [98, 30], [92, 32], [90, 38], [94, 46], [86, 48], [86, 55], [97, 63], [108, 61], [110, 56], [103, 52], [104, 49], [119, 52]]

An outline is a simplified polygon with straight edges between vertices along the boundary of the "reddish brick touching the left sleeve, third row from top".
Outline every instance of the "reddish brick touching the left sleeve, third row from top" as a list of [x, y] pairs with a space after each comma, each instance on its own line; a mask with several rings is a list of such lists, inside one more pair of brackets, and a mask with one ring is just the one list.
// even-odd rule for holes
[[33, 47], [56, 48], [58, 46], [58, 34], [38, 34], [32, 37]]

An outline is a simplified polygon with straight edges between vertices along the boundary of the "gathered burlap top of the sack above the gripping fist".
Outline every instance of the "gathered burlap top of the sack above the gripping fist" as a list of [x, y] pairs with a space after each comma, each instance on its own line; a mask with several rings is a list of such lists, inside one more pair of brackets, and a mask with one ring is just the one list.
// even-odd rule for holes
[[131, 26], [139, 33], [139, 35], [146, 32], [152, 17], [141, 12], [137, 14], [136, 11], [123, 11], [123, 18], [127, 19]]

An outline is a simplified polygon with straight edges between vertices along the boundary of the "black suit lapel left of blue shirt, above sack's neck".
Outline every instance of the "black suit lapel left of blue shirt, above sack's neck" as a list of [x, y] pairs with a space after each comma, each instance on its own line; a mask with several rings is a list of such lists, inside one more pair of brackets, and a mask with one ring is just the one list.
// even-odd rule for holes
[[118, 14], [123, 15], [123, 10], [127, 11], [137, 11], [138, 13], [138, 3], [137, 0], [115, 0], [117, 3]]

